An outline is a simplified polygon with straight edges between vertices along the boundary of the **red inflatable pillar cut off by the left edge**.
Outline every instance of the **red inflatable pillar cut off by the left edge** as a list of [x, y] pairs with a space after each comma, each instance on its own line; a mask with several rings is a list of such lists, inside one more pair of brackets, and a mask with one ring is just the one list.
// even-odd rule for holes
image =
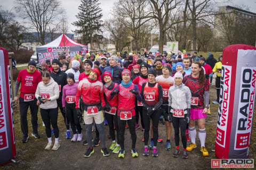
[[0, 47], [0, 165], [16, 156], [9, 55]]

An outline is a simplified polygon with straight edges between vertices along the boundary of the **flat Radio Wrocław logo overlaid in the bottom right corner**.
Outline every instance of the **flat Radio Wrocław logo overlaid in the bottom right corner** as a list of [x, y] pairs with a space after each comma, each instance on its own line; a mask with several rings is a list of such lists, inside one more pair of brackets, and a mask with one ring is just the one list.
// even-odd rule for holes
[[211, 159], [211, 168], [254, 168], [254, 159]]

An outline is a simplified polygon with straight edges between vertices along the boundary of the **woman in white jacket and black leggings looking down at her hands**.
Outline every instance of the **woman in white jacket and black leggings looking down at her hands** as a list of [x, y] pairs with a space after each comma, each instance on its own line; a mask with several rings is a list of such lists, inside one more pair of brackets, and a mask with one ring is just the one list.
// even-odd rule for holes
[[[57, 82], [55, 82], [49, 72], [42, 75], [41, 82], [38, 83], [36, 89], [37, 105], [40, 105], [40, 112], [42, 120], [45, 124], [45, 132], [48, 138], [46, 150], [58, 150], [59, 143], [59, 128], [57, 125], [58, 119], [58, 105], [57, 99], [59, 98], [60, 90]], [[55, 142], [52, 147], [51, 124], [54, 130]]]

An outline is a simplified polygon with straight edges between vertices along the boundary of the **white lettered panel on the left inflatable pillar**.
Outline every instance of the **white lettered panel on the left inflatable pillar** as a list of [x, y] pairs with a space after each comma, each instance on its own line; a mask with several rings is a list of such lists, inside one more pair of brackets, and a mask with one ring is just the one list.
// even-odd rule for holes
[[[4, 89], [3, 89], [3, 74], [2, 66], [0, 66], [0, 150], [8, 148], [8, 138], [7, 138], [7, 127], [6, 127], [6, 117], [4, 108]], [[4, 75], [5, 76], [5, 75]]]

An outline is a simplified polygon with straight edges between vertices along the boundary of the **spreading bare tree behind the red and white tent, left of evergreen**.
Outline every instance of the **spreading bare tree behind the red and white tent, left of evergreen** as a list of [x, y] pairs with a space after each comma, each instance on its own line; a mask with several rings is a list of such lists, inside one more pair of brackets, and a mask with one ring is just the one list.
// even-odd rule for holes
[[46, 30], [59, 21], [63, 9], [58, 0], [15, 0], [17, 12], [28, 19], [38, 32], [38, 39], [45, 44]]

